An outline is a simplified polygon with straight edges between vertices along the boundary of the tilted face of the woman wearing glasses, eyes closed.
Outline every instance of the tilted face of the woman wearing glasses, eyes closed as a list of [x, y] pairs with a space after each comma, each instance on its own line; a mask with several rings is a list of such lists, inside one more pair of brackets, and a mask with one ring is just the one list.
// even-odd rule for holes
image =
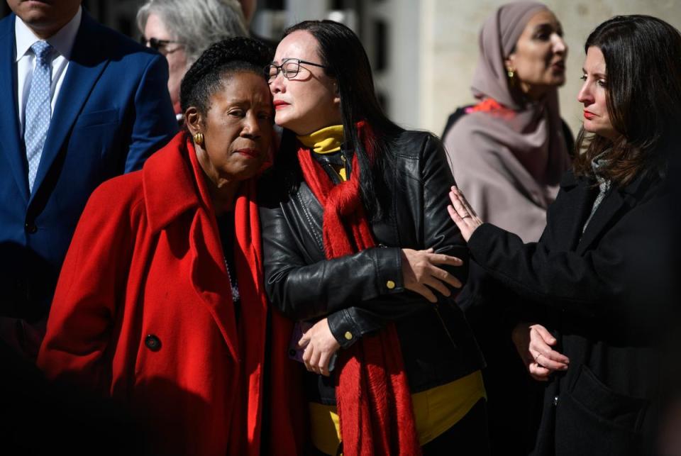
[[[321, 65], [317, 40], [305, 30], [287, 35], [277, 46], [274, 65], [286, 59], [306, 60]], [[341, 98], [336, 93], [335, 79], [321, 67], [300, 64], [292, 79], [279, 72], [270, 82], [275, 104], [275, 122], [297, 135], [308, 135], [320, 128], [341, 124]]]

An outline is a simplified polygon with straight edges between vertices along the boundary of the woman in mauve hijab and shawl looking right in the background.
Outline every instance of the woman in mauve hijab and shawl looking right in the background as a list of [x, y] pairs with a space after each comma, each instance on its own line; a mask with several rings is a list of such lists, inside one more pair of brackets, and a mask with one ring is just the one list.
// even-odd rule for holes
[[[455, 123], [443, 134], [455, 180], [471, 206], [526, 242], [541, 235], [546, 208], [570, 165], [572, 135], [558, 112], [566, 56], [563, 29], [546, 6], [519, 1], [499, 7], [480, 31], [472, 81], [479, 101], [453, 114], [449, 124]], [[506, 311], [499, 310], [513, 295], [502, 290], [471, 262], [457, 301], [487, 360], [492, 449], [522, 454], [532, 435], [527, 404], [538, 401], [540, 391], [517, 360]], [[519, 438], [509, 442], [509, 432]]]

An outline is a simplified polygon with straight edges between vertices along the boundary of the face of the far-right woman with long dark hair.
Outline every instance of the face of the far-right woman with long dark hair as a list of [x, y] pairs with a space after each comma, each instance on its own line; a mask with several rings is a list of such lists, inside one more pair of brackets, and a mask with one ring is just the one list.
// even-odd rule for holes
[[577, 100], [584, 105], [584, 129], [604, 138], [614, 139], [619, 133], [613, 128], [606, 102], [606, 68], [603, 52], [596, 46], [587, 49], [582, 69], [582, 89]]

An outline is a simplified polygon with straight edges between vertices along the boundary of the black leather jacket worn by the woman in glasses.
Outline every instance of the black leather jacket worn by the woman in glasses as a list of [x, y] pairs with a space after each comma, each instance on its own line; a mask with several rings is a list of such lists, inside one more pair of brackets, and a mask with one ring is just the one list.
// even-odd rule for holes
[[[379, 246], [333, 260], [324, 256], [323, 211], [309, 187], [300, 182], [287, 191], [277, 170], [260, 180], [265, 288], [295, 321], [326, 316], [341, 347], [394, 321], [409, 387], [417, 392], [475, 372], [484, 361], [453, 297], [436, 292], [438, 303], [431, 304], [402, 281], [401, 249], [434, 248], [465, 261], [450, 269], [465, 283], [468, 253], [446, 209], [454, 179], [442, 145], [429, 133], [405, 131], [392, 153], [389, 216], [372, 223]], [[320, 399], [330, 402], [332, 395], [327, 389]]]

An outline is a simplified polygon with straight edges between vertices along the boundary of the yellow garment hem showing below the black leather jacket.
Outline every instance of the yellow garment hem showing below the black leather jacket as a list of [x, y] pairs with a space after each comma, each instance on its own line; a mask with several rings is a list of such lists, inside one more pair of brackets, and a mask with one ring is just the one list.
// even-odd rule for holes
[[[482, 373], [477, 370], [466, 377], [439, 387], [411, 394], [416, 433], [421, 446], [454, 426], [480, 401], [487, 399]], [[341, 444], [341, 426], [336, 406], [310, 402], [312, 444], [327, 455], [336, 455]]]

